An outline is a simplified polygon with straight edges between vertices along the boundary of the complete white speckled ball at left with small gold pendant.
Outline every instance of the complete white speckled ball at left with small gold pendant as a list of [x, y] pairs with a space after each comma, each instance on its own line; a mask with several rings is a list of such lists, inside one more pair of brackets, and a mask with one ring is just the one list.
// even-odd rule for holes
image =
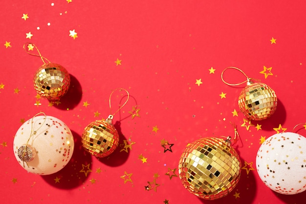
[[74, 141], [70, 129], [52, 116], [36, 116], [22, 124], [14, 138], [14, 154], [28, 172], [48, 175], [71, 159]]

